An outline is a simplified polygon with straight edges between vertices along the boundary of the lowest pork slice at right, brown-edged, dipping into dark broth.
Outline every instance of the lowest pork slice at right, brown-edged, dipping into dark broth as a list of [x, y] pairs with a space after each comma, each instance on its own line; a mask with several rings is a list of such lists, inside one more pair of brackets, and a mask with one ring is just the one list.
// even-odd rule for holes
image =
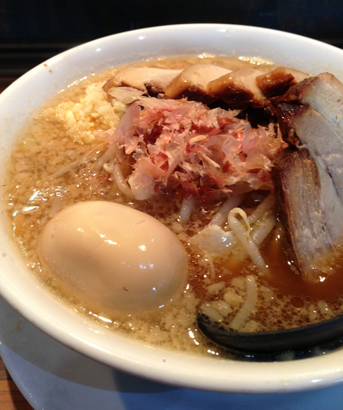
[[331, 257], [342, 245], [343, 205], [329, 173], [307, 148], [283, 153], [272, 174], [296, 266], [316, 282], [320, 273], [330, 273]]

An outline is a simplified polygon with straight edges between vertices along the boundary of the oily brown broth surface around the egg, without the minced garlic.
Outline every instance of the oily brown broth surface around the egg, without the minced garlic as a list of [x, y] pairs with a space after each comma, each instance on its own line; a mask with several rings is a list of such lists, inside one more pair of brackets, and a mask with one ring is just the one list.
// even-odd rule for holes
[[[135, 64], [182, 69], [194, 62], [211, 62], [231, 69], [250, 65], [250, 62], [238, 58], [215, 56], [178, 56]], [[274, 231], [268, 243], [263, 245], [265, 260], [273, 266], [273, 277], [261, 277], [248, 262], [237, 262], [234, 258], [219, 260], [212, 265], [207, 255], [191, 250], [189, 238], [208, 223], [220, 207], [220, 201], [214, 201], [213, 204], [198, 203], [189, 224], [182, 227], [178, 221], [180, 199], [171, 192], [157, 192], [156, 198], [148, 201], [131, 201], [119, 194], [106, 172], [93, 171], [94, 159], [104, 152], [106, 144], [96, 139], [73, 138], [73, 129], [66, 132], [55, 107], [64, 102], [78, 102], [89, 84], [105, 82], [116, 70], [117, 68], [113, 68], [90, 76], [61, 91], [36, 113], [31, 124], [27, 124], [13, 150], [12, 163], [7, 172], [8, 214], [13, 223], [14, 238], [23, 251], [27, 266], [40, 277], [43, 284], [56, 297], [82, 314], [103, 323], [106, 328], [122, 330], [132, 337], [165, 348], [215, 356], [222, 356], [227, 352], [206, 341], [198, 332], [196, 312], [200, 306], [206, 305], [222, 314], [222, 300], [228, 288], [233, 289], [238, 296], [237, 300], [244, 300], [244, 280], [248, 274], [255, 275], [259, 288], [257, 307], [248, 322], [248, 330], [301, 326], [329, 319], [340, 313], [343, 303], [339, 295], [343, 294], [343, 286], [335, 286], [335, 295], [322, 284], [306, 286], [301, 277], [294, 275], [289, 269], [283, 256], [278, 236], [282, 236], [282, 232]], [[103, 125], [95, 117], [90, 126], [90, 134], [95, 130], [102, 130]], [[59, 175], [69, 164], [74, 164], [69, 172], [56, 178], [51, 177]], [[60, 209], [79, 201], [91, 200], [114, 201], [147, 212], [178, 234], [189, 252], [189, 283], [184, 293], [172, 304], [155, 310], [152, 315], [102, 312], [94, 308], [90, 301], [78, 300], [71, 289], [41, 269], [37, 249], [44, 225]], [[246, 211], [249, 212], [248, 203]], [[279, 255], [278, 258], [275, 258], [276, 254]], [[335, 282], [338, 285], [337, 275], [334, 276], [324, 283]], [[289, 277], [292, 278], [292, 286], [287, 285]], [[218, 286], [213, 286], [215, 284]], [[299, 288], [302, 289], [301, 293], [297, 291]], [[239, 304], [233, 304], [230, 309], [224, 322], [229, 323], [230, 318], [239, 310]]]

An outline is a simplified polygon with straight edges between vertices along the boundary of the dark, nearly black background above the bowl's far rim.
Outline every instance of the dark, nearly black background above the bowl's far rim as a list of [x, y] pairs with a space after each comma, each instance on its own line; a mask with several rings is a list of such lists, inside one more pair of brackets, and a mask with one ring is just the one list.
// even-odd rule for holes
[[343, 0], [0, 0], [0, 78], [94, 38], [179, 23], [255, 25], [343, 48]]

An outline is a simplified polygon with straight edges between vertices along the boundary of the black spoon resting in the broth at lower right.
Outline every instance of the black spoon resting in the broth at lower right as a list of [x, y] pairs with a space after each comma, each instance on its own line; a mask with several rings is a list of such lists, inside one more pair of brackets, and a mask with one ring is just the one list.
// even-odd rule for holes
[[224, 328], [202, 313], [198, 327], [211, 341], [243, 354], [305, 352], [316, 347], [335, 347], [343, 341], [343, 315], [313, 325], [272, 332], [236, 332]]

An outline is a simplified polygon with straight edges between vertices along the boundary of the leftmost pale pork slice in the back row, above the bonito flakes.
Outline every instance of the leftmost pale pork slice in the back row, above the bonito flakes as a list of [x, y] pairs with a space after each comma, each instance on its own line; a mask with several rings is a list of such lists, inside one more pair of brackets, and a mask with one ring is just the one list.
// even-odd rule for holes
[[119, 70], [115, 76], [104, 84], [104, 91], [108, 92], [113, 87], [131, 87], [156, 96], [182, 70], [163, 69], [159, 67], [127, 67]]

